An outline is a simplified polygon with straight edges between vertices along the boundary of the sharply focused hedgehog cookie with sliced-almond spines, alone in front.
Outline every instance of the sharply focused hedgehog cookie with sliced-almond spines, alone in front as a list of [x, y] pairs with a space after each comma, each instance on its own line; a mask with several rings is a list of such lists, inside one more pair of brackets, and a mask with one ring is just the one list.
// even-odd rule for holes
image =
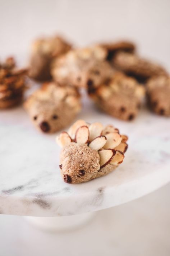
[[75, 122], [56, 142], [60, 154], [61, 176], [66, 183], [81, 183], [112, 172], [123, 162], [128, 137], [112, 125]]

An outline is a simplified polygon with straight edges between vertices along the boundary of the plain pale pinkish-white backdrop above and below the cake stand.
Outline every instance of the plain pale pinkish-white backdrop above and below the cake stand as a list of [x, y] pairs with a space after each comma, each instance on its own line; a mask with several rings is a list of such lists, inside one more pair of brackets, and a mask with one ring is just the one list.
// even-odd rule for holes
[[[28, 60], [29, 45], [60, 32], [84, 46], [130, 39], [139, 53], [170, 70], [169, 0], [0, 0], [0, 58]], [[45, 234], [22, 217], [0, 216], [0, 256], [170, 255], [170, 185], [99, 212], [81, 230]]]

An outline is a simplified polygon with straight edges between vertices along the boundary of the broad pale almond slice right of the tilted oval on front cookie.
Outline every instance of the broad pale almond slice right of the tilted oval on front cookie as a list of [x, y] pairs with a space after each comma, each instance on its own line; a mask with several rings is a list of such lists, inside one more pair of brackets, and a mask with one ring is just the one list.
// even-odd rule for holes
[[107, 138], [107, 142], [104, 145], [104, 149], [114, 149], [121, 142], [121, 136], [117, 132], [108, 133], [105, 136]]

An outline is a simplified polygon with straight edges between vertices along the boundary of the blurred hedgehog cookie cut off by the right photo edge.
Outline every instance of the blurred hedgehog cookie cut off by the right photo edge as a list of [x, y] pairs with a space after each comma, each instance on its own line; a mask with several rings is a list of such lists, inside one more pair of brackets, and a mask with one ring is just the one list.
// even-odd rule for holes
[[170, 116], [170, 76], [151, 78], [146, 89], [151, 109], [159, 115]]

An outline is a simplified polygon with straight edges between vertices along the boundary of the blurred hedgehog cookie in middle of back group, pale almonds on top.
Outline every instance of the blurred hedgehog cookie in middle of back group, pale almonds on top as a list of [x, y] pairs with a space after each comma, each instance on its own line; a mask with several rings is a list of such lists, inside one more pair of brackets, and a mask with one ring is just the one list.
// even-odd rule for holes
[[54, 61], [52, 77], [60, 84], [93, 90], [113, 72], [106, 57], [107, 50], [99, 46], [71, 50]]

